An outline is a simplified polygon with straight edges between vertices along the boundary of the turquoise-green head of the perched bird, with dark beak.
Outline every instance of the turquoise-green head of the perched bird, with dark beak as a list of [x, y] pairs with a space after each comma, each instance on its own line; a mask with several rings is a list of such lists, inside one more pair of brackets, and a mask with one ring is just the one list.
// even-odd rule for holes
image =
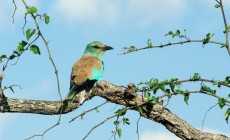
[[101, 59], [105, 51], [112, 50], [112, 49], [113, 49], [112, 47], [104, 45], [100, 41], [93, 41], [86, 46], [83, 55], [94, 56]]

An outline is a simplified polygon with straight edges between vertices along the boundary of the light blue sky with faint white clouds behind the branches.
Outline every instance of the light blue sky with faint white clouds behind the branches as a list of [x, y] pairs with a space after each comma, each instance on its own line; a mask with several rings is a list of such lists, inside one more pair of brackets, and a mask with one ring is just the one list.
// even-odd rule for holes
[[[49, 25], [41, 24], [41, 31], [49, 41], [53, 59], [57, 65], [61, 93], [65, 97], [69, 88], [69, 76], [72, 65], [79, 59], [85, 46], [94, 40], [100, 40], [114, 47], [103, 58], [105, 71], [102, 79], [116, 85], [126, 86], [129, 82], [159, 78], [161, 80], [178, 77], [187, 79], [198, 72], [204, 78], [223, 80], [230, 73], [230, 57], [226, 49], [216, 45], [200, 43], [166, 47], [164, 49], [149, 49], [128, 55], [118, 55], [123, 47], [135, 45], [144, 47], [147, 39], [152, 39], [153, 45], [165, 44], [171, 40], [164, 35], [172, 30], [187, 30], [190, 39], [203, 39], [208, 32], [215, 33], [213, 40], [224, 41], [223, 19], [220, 9], [215, 9], [215, 0], [56, 0], [27, 1], [29, 5], [38, 8], [39, 13], [47, 13], [51, 17]], [[223, 0], [226, 17], [230, 17], [230, 1]], [[22, 34], [25, 8], [20, 0], [16, 0], [18, 9], [15, 23], [12, 23], [14, 5], [11, 1], [0, 0], [0, 54], [10, 54], [20, 40], [25, 40]], [[32, 20], [26, 28], [35, 28]], [[58, 100], [57, 85], [52, 65], [48, 59], [45, 46], [41, 40], [41, 56], [31, 52], [25, 53], [16, 66], [11, 66], [5, 73], [4, 85], [21, 85], [15, 88], [15, 93], [6, 91], [7, 97]], [[1, 64], [2, 66], [2, 64]], [[187, 85], [193, 89], [196, 86]], [[220, 95], [228, 94], [227, 89]], [[87, 101], [76, 111], [63, 115], [61, 125], [48, 132], [44, 139], [82, 139], [96, 124], [114, 114], [121, 108], [115, 104], [107, 104], [99, 113], [91, 112], [84, 120], [71, 118], [90, 109], [104, 99], [94, 98]], [[201, 130], [205, 112], [217, 102], [216, 99], [202, 95], [190, 96], [189, 106], [183, 97], [173, 98], [168, 108], [193, 127]], [[114, 108], [116, 109], [114, 110]], [[204, 130], [222, 133], [230, 136], [229, 124], [224, 120], [225, 110], [218, 107], [211, 110], [204, 123]], [[135, 140], [136, 121], [138, 113], [127, 113], [131, 124], [122, 126], [122, 140]], [[0, 139], [24, 139], [55, 124], [58, 116], [34, 114], [1, 113]], [[100, 126], [88, 137], [89, 140], [109, 139], [111, 131], [115, 130], [113, 121]], [[170, 134], [162, 125], [145, 118], [139, 124], [141, 140], [178, 139]], [[40, 140], [40, 137], [35, 140]]]

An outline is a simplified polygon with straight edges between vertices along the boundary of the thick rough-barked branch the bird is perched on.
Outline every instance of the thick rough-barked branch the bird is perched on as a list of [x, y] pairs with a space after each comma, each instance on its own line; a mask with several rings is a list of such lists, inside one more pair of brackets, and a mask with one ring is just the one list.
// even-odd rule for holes
[[[142, 108], [141, 116], [164, 125], [169, 131], [183, 140], [230, 140], [230, 137], [221, 134], [202, 132], [193, 128], [186, 121], [170, 112], [164, 106], [150, 105], [142, 96], [133, 92], [130, 88], [116, 86], [106, 81], [98, 82], [90, 91], [81, 92], [73, 99], [71, 106], [64, 103], [62, 113], [76, 110], [85, 101], [100, 96], [106, 100], [120, 104], [128, 109], [138, 111], [137, 105]], [[41, 101], [4, 98], [0, 103], [0, 112], [33, 113], [43, 115], [60, 114], [63, 103], [59, 101]]]

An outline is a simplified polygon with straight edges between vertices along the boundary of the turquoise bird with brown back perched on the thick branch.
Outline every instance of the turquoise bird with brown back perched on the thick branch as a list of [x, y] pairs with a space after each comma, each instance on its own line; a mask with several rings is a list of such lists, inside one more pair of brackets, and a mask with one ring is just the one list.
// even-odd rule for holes
[[73, 65], [67, 101], [71, 101], [82, 90], [92, 88], [95, 82], [101, 79], [104, 70], [102, 56], [105, 51], [111, 49], [113, 48], [100, 41], [91, 42], [86, 46], [81, 59]]

